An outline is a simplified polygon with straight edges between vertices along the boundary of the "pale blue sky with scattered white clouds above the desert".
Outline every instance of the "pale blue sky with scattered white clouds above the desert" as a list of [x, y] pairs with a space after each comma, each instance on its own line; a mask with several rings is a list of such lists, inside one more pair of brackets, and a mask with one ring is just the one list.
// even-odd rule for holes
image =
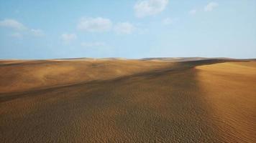
[[256, 58], [255, 0], [0, 0], [0, 59]]

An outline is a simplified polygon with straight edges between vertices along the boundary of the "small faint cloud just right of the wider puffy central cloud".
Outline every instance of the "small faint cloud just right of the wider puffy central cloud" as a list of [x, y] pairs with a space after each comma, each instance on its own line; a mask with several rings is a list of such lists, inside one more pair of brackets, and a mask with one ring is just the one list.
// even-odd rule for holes
[[114, 27], [114, 31], [116, 31], [117, 34], [132, 34], [132, 31], [135, 29], [135, 26], [129, 22], [118, 23]]

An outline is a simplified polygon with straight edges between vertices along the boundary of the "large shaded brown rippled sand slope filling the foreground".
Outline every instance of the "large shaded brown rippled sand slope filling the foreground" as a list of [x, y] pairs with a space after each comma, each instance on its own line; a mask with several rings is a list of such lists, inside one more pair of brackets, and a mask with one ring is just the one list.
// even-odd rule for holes
[[211, 109], [198, 87], [193, 69], [198, 64], [206, 63], [180, 63], [162, 71], [6, 99], [1, 102], [1, 139], [221, 142]]

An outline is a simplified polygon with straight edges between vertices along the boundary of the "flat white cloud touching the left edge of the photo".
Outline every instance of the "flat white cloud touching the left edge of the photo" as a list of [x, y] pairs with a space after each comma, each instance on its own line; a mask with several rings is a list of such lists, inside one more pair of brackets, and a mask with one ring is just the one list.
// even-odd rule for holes
[[19, 23], [18, 21], [14, 19], [4, 19], [3, 21], [0, 21], [0, 26], [15, 29], [15, 30], [26, 30], [27, 27], [24, 26], [22, 23]]

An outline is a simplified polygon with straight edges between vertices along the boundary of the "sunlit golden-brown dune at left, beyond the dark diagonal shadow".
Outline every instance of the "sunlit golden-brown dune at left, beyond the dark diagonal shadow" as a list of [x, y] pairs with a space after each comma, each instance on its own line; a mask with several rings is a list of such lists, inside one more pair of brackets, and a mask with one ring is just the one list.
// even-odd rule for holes
[[42, 60], [2, 61], [0, 93], [106, 80], [163, 69], [171, 64], [138, 60]]

